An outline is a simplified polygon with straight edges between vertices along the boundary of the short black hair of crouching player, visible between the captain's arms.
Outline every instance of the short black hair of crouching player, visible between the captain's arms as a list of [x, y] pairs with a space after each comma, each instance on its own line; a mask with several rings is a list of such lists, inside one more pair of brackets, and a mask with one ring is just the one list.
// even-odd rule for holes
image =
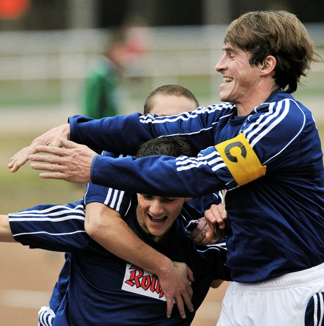
[[140, 158], [153, 155], [167, 155], [173, 157], [181, 155], [192, 156], [190, 145], [184, 136], [151, 139], [139, 147], [135, 157]]

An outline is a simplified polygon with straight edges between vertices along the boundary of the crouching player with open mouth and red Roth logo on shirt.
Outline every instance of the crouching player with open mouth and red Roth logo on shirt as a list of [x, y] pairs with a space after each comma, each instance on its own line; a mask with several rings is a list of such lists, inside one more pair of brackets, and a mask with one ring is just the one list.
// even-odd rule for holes
[[[163, 137], [145, 143], [137, 156], [189, 152], [190, 146], [182, 137]], [[44, 206], [33, 207], [9, 214], [9, 218], [0, 215], [1, 240], [71, 252], [64, 297], [53, 318], [45, 320], [43, 316], [41, 324], [190, 325], [195, 312], [187, 311], [185, 319], [179, 311], [166, 317], [166, 299], [156, 275], [109, 253], [85, 233], [83, 207], [87, 201], [105, 199], [99, 196], [107, 191], [99, 191], [99, 187], [104, 188], [90, 184], [84, 200], [64, 207], [50, 206], [47, 211]], [[192, 213], [192, 207], [187, 206], [189, 200], [138, 194], [131, 199], [124, 221], [155, 250], [192, 269], [192, 302], [197, 309], [213, 279], [229, 278], [224, 267], [224, 243], [196, 249], [187, 235]]]

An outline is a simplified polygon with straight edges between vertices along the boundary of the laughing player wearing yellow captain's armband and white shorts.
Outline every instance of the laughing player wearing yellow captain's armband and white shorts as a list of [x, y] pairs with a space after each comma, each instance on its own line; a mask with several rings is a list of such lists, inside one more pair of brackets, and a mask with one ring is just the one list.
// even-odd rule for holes
[[[292, 93], [311, 63], [322, 59], [305, 26], [286, 11], [241, 15], [227, 28], [223, 51], [215, 69], [223, 75], [224, 103], [168, 118], [74, 116], [36, 138], [9, 168], [15, 172], [29, 154], [44, 151], [59, 156], [29, 156], [40, 161], [33, 169], [47, 171], [43, 178], [159, 196], [225, 188], [232, 228], [226, 264], [234, 282], [219, 325], [302, 325], [307, 302], [324, 289], [324, 169], [314, 118]], [[199, 154], [112, 160], [85, 146], [131, 154], [150, 138], [175, 134], [187, 135]], [[60, 144], [60, 137], [67, 148], [42, 146]], [[147, 180], [143, 167], [152, 169], [145, 170]], [[163, 182], [152, 177], [156, 167]]]

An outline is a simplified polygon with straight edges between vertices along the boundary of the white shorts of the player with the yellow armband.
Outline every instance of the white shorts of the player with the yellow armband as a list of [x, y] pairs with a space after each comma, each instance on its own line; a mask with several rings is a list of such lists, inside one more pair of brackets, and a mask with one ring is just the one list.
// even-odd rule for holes
[[232, 282], [217, 326], [304, 326], [314, 294], [324, 291], [324, 263], [268, 281]]

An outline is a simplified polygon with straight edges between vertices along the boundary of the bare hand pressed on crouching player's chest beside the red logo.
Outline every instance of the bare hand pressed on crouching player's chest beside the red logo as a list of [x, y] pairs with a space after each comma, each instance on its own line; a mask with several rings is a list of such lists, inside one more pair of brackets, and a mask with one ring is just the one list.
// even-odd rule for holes
[[190, 312], [193, 311], [192, 289], [189, 281], [193, 282], [193, 273], [185, 263], [172, 262], [166, 268], [165, 275], [157, 275], [160, 286], [167, 298], [167, 317], [170, 318], [174, 301], [182, 318], [186, 317], [184, 304]]

